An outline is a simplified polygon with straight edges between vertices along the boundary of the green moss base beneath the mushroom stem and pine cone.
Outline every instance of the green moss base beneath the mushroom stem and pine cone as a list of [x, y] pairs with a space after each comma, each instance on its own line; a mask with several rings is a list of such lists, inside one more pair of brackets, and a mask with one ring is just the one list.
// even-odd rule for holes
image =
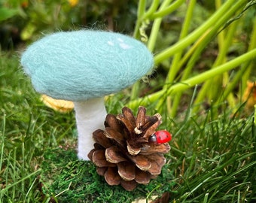
[[[133, 192], [121, 186], [109, 186], [96, 173], [92, 162], [77, 159], [75, 150], [50, 149], [41, 165], [41, 186], [45, 201], [56, 202], [132, 202], [136, 198], [162, 195], [169, 191], [172, 175], [168, 165], [148, 185], [139, 185]], [[150, 194], [150, 195], [149, 195]]]

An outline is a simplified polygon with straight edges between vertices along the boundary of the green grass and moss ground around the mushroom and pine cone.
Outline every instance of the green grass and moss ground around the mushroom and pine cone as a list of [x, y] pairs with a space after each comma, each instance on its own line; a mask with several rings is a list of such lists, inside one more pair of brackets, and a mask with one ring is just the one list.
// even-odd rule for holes
[[[163, 115], [161, 128], [173, 136], [166, 165], [157, 179], [127, 192], [76, 159], [74, 113], [47, 108], [19, 59], [20, 52], [1, 53], [1, 202], [131, 202], [163, 192], [171, 202], [256, 201], [256, 126], [244, 105], [233, 114], [224, 103], [218, 117], [212, 108], [192, 114], [190, 106], [175, 119]], [[120, 113], [124, 95], [107, 99], [109, 113]]]

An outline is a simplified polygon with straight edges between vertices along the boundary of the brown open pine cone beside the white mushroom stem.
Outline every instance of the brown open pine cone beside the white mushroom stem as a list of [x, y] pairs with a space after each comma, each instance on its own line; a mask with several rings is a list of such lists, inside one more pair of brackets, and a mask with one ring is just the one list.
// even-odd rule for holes
[[88, 157], [109, 185], [120, 184], [131, 191], [137, 183], [147, 184], [160, 174], [166, 163], [163, 153], [169, 152], [170, 147], [150, 141], [161, 123], [160, 114], [146, 116], [144, 107], [139, 108], [137, 117], [129, 108], [122, 112], [117, 116], [108, 114], [105, 130], [93, 132], [96, 144]]

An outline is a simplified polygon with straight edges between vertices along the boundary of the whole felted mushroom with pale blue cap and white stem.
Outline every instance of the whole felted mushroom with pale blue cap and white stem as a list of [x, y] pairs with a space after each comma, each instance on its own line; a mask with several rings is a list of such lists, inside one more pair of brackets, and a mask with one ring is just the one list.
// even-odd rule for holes
[[114, 32], [56, 32], [30, 45], [21, 57], [24, 71], [41, 94], [74, 102], [78, 158], [88, 160], [92, 133], [104, 128], [104, 95], [139, 80], [154, 65], [142, 42]]

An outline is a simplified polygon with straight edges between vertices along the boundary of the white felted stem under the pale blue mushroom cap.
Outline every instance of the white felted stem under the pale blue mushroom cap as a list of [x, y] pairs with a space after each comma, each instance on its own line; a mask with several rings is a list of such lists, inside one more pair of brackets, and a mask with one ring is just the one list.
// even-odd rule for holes
[[78, 159], [89, 160], [87, 155], [93, 149], [93, 132], [96, 129], [104, 129], [107, 115], [104, 98], [74, 102], [74, 105], [78, 128]]

